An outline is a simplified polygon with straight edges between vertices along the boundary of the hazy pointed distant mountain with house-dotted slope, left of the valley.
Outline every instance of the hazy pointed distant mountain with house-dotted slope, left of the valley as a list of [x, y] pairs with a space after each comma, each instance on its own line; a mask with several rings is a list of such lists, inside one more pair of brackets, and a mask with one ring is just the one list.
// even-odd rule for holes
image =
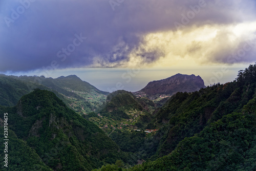
[[61, 76], [55, 79], [40, 77], [40, 82], [63, 95], [70, 107], [81, 115], [98, 109], [105, 101], [106, 95], [109, 94], [82, 81], [76, 75]]

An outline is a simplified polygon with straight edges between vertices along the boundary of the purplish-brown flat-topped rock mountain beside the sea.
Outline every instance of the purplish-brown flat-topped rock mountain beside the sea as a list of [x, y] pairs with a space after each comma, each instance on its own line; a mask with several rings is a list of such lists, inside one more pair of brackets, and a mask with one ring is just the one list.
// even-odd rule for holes
[[176, 74], [166, 79], [149, 82], [140, 92], [148, 96], [173, 95], [177, 92], [194, 92], [201, 88], [205, 86], [200, 76]]

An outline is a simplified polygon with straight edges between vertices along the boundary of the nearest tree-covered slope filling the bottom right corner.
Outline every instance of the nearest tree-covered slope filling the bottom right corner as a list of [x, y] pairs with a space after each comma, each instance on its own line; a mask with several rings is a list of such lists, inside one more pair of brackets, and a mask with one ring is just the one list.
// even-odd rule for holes
[[129, 170], [255, 170], [255, 99], [241, 113], [225, 115], [185, 138], [169, 155]]

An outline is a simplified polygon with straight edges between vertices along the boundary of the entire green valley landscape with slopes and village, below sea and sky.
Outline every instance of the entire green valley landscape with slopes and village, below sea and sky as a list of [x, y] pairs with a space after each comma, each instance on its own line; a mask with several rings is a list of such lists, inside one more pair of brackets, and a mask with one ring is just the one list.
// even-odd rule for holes
[[[256, 64], [233, 82], [192, 92], [183, 84], [184, 91], [154, 95], [102, 92], [74, 75], [42, 77], [41, 84], [0, 75], [0, 112], [10, 116], [10, 168], [19, 170], [30, 158], [20, 155], [25, 151], [34, 156], [22, 166], [27, 170], [253, 170], [255, 74]], [[178, 76], [169, 79], [187, 79]]]

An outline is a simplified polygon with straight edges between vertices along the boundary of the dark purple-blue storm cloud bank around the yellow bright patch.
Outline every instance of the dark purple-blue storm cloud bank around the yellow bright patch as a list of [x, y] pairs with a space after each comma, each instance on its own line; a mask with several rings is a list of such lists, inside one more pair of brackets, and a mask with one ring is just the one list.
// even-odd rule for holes
[[[175, 22], [189, 31], [190, 26], [227, 25], [255, 18], [255, 4], [249, 0], [119, 2], [113, 10], [108, 0], [1, 1], [0, 71], [41, 69], [53, 61], [58, 68], [95, 62], [100, 67], [117, 67], [129, 60], [129, 54], [143, 42], [143, 35], [176, 31]], [[192, 7], [198, 10], [200, 3], [206, 5], [184, 24], [182, 14]], [[77, 36], [86, 39], [79, 41]], [[163, 55], [159, 49], [141, 51], [146, 63]]]

